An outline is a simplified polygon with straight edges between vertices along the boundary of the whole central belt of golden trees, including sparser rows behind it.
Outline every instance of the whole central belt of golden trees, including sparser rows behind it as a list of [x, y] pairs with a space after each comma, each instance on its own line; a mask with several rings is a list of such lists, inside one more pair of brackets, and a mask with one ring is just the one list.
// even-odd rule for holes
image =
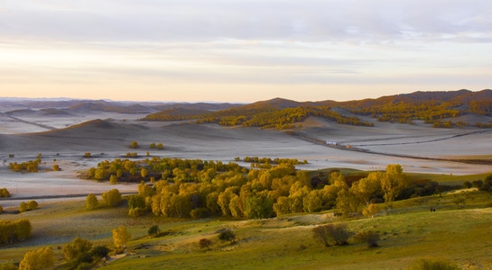
[[[98, 169], [105, 170], [108, 176], [117, 174], [116, 168], [132, 164], [126, 168], [133, 168], [135, 180], [141, 181], [138, 193], [127, 196], [128, 213], [134, 217], [153, 212], [176, 218], [263, 219], [330, 209], [336, 209], [340, 215], [363, 213], [370, 217], [380, 211], [377, 202], [385, 202], [388, 209], [395, 200], [429, 195], [442, 188], [435, 182], [412, 181], [397, 164], [348, 181], [339, 171], [320, 179], [319, 175], [297, 170], [295, 164], [299, 161], [282, 160], [247, 169], [236, 163], [153, 157], [142, 163], [105, 161]], [[107, 178], [111, 177], [116, 175]]]

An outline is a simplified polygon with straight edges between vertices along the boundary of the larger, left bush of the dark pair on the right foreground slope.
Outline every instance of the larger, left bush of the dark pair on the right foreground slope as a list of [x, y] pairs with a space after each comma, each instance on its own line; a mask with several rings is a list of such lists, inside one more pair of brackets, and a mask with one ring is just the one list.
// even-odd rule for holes
[[313, 228], [312, 232], [314, 238], [323, 243], [325, 247], [348, 245], [348, 238], [352, 236], [352, 232], [345, 224], [320, 225]]

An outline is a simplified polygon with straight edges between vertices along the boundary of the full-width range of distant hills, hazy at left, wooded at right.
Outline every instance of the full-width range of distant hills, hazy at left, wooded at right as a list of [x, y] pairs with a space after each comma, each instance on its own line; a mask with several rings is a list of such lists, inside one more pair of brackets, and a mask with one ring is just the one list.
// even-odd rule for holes
[[[73, 112], [117, 112], [146, 114], [145, 121], [215, 122], [221, 125], [243, 125], [288, 129], [309, 116], [320, 116], [339, 123], [367, 125], [358, 116], [369, 116], [377, 121], [413, 123], [422, 120], [435, 127], [475, 124], [492, 127], [492, 122], [466, 123], [452, 121], [461, 115], [492, 116], [492, 90], [429, 91], [395, 94], [376, 99], [348, 102], [331, 100], [296, 102], [274, 98], [256, 103], [141, 103], [107, 100], [65, 99], [2, 99], [0, 109], [13, 113], [16, 109], [42, 110], [50, 114]], [[492, 121], [492, 119], [491, 119]]]

